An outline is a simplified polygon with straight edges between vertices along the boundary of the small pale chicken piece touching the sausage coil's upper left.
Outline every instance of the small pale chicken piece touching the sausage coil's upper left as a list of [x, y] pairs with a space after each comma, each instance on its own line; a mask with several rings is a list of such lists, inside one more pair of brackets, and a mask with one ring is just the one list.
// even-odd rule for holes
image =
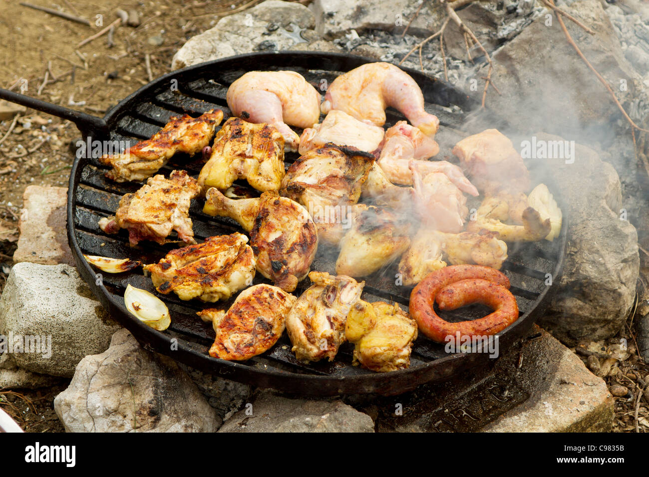
[[442, 260], [442, 244], [435, 238], [435, 231], [424, 227], [415, 234], [399, 262], [402, 284], [416, 285], [429, 273], [447, 266]]

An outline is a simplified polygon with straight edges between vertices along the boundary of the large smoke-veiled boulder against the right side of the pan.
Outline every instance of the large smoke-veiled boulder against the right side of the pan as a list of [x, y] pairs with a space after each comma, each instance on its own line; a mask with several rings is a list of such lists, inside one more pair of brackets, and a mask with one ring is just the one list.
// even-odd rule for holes
[[557, 293], [539, 324], [569, 344], [614, 336], [631, 310], [640, 267], [637, 232], [625, 215], [618, 175], [579, 144], [573, 164], [564, 158], [529, 164], [535, 182], [549, 176], [569, 224], [563, 276], [554, 283]]

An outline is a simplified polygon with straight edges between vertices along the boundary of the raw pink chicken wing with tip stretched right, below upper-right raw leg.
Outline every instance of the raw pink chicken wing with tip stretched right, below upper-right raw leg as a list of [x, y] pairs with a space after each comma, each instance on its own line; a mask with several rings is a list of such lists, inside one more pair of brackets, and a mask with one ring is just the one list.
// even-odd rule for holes
[[441, 172], [446, 174], [448, 179], [458, 186], [459, 190], [471, 195], [478, 195], [478, 190], [469, 182], [469, 179], [464, 177], [462, 169], [457, 165], [447, 161], [422, 160], [434, 156], [438, 152], [439, 146], [434, 140], [424, 136], [419, 129], [413, 128], [406, 121], [399, 121], [386, 131], [378, 165], [393, 184], [410, 186], [413, 183], [410, 162], [415, 160], [417, 170], [422, 175]]

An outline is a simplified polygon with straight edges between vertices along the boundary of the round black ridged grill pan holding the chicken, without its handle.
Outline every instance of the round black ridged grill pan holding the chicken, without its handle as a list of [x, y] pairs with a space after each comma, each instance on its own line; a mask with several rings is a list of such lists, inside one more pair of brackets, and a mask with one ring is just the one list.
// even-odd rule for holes
[[[330, 84], [339, 74], [372, 61], [360, 56], [295, 51], [251, 53], [190, 66], [154, 80], [111, 108], [104, 117], [107, 124], [105, 130], [82, 132], [92, 141], [130, 140], [130, 143], [134, 144], [149, 138], [164, 126], [171, 116], [185, 113], [198, 116], [211, 108], [219, 108], [223, 110], [225, 117], [228, 117], [230, 110], [225, 101], [227, 88], [247, 71], [292, 69], [304, 75], [308, 82], [319, 89], [323, 80]], [[403, 69], [422, 88], [426, 110], [439, 117], [441, 129], [461, 130], [466, 127], [467, 121], [474, 118], [472, 111], [476, 110], [479, 104], [471, 97], [419, 71]], [[398, 112], [388, 110], [386, 127], [401, 119], [404, 118]], [[489, 113], [489, 125], [486, 127], [502, 127], [502, 124], [501, 119]], [[167, 177], [173, 169], [184, 169], [196, 177], [202, 166], [199, 155], [189, 158], [184, 154], [177, 154], [159, 173]], [[298, 154], [295, 153], [287, 154], [287, 167], [297, 157]], [[219, 302], [183, 302], [173, 293], [161, 295], [154, 289], [151, 279], [143, 276], [141, 269], [118, 275], [101, 274], [83, 258], [83, 254], [90, 254], [154, 263], [168, 251], [183, 246], [177, 243], [158, 245], [153, 242], [141, 242], [137, 247], [131, 248], [125, 230], [116, 235], [104, 234], [97, 225], [99, 219], [114, 214], [121, 195], [132, 193], [141, 187], [141, 184], [136, 182], [112, 182], [104, 177], [106, 170], [96, 158], [75, 159], [67, 201], [69, 245], [80, 276], [110, 312], [111, 317], [128, 328], [146, 349], [223, 378], [303, 395], [394, 395], [410, 391], [425, 382], [446, 380], [459, 371], [480, 365], [489, 359], [486, 353], [448, 354], [444, 345], [434, 343], [420, 334], [413, 346], [411, 365], [408, 369], [373, 373], [354, 367], [351, 365], [352, 345], [349, 343], [341, 347], [336, 361], [307, 365], [295, 360], [286, 333], [271, 350], [251, 360], [238, 362], [212, 358], [207, 351], [214, 341], [214, 330], [210, 324], [203, 323], [195, 312], [210, 306], [220, 306]], [[548, 180], [545, 183], [561, 206], [561, 197], [557, 197], [556, 188], [553, 188]], [[238, 224], [230, 219], [203, 214], [201, 199], [192, 201], [190, 216], [195, 237], [199, 241], [208, 236], [242, 231]], [[509, 258], [503, 265], [503, 271], [511, 280], [511, 291], [517, 298], [520, 317], [498, 334], [501, 353], [505, 347], [523, 337], [545, 312], [551, 296], [556, 291], [556, 284], [559, 283], [566, 241], [567, 219], [564, 217], [561, 234], [553, 242], [541, 241], [509, 246]], [[325, 247], [322, 248], [324, 253], [319, 251], [312, 270], [334, 273], [335, 256], [332, 261], [331, 254], [326, 253]], [[395, 284], [396, 271], [396, 264], [393, 264], [373, 276], [366, 277], [363, 299], [394, 300], [407, 311], [411, 287]], [[546, 286], [548, 276], [551, 276], [555, 286]], [[168, 330], [153, 330], [127, 312], [123, 302], [123, 290], [129, 283], [147, 289], [165, 301], [171, 312], [171, 326]], [[258, 274], [254, 280], [254, 284], [257, 283], [269, 282]], [[294, 294], [299, 296], [308, 286], [308, 280], [304, 280]], [[233, 299], [228, 300], [225, 305], [232, 301]], [[486, 310], [476, 305], [441, 315], [449, 321], [461, 321], [484, 316]]]

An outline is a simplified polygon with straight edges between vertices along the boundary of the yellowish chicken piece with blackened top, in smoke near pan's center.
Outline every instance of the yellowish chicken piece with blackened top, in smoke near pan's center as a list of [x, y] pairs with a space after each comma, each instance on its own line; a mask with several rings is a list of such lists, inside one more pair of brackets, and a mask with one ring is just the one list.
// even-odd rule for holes
[[408, 230], [396, 217], [374, 206], [357, 204], [358, 215], [340, 241], [336, 273], [349, 276], [371, 275], [396, 260], [408, 249]]

